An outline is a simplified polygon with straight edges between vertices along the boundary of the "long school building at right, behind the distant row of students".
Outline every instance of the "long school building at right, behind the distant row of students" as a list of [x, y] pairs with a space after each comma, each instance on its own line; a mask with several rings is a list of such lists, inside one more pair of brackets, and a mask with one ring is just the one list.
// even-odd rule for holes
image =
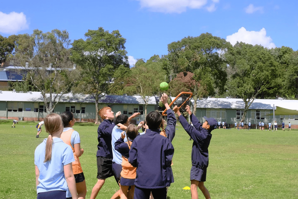
[[[193, 110], [194, 100], [190, 101], [190, 107]], [[217, 121], [225, 121], [228, 127], [234, 128], [235, 122], [239, 124], [244, 113], [244, 102], [242, 99], [235, 98], [204, 98], [197, 100], [196, 116], [200, 121], [204, 121], [204, 116], [212, 117]], [[251, 128], [256, 128], [259, 122], [265, 123], [268, 129], [268, 123], [277, 122], [281, 127], [282, 122], [285, 128], [288, 128], [289, 122], [292, 129], [298, 128], [298, 101], [284, 99], [255, 99], [246, 113], [244, 127], [248, 128], [249, 121]], [[274, 115], [273, 115], [274, 114]]]

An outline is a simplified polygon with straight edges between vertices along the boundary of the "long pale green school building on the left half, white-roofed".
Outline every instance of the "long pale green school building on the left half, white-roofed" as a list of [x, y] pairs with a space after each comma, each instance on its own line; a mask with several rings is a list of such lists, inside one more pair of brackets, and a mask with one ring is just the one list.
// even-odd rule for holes
[[[135, 112], [141, 114], [131, 120], [138, 124], [144, 120], [145, 105], [140, 96], [105, 95], [98, 102], [98, 109], [108, 106], [113, 112], [131, 116]], [[155, 97], [150, 97], [147, 112], [157, 109]], [[54, 112], [61, 114], [71, 111], [76, 121], [94, 122], [96, 118], [95, 100], [92, 95], [63, 94]], [[46, 107], [41, 92], [0, 91], [0, 118], [16, 119], [18, 121], [43, 121], [46, 117]], [[101, 118], [100, 118], [101, 120]]]

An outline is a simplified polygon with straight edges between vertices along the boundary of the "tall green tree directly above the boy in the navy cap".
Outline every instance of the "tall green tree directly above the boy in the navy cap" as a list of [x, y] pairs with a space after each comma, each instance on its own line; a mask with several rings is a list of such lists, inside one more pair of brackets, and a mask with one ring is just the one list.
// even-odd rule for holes
[[[167, 57], [173, 72], [184, 72], [184, 76], [187, 72], [194, 73], [195, 107], [199, 97], [215, 95], [215, 91], [218, 94], [225, 92], [227, 61], [224, 53], [231, 48], [232, 45], [225, 39], [212, 36], [210, 33], [198, 37], [188, 36], [168, 45]], [[201, 88], [198, 88], [198, 85]]]

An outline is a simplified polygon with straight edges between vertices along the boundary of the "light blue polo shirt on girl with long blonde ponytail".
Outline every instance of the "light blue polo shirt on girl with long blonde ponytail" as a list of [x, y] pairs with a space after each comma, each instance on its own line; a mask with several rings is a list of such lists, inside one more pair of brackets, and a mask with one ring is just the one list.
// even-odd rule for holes
[[40, 182], [37, 193], [48, 191], [68, 191], [63, 166], [75, 161], [72, 148], [60, 138], [53, 138], [52, 158], [44, 162], [46, 139], [39, 144], [34, 153], [34, 164], [38, 167]]

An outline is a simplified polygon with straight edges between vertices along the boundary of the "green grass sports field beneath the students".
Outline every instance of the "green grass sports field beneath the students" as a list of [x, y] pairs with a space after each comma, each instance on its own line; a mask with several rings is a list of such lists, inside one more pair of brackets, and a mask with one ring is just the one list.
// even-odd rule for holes
[[[35, 138], [37, 123], [22, 122], [11, 128], [12, 120], [0, 121], [0, 198], [36, 198], [34, 151], [47, 137], [42, 127]], [[180, 126], [173, 140], [175, 182], [168, 198], [190, 198], [191, 147], [193, 141]], [[87, 196], [96, 183], [97, 126], [76, 124], [84, 154], [80, 157], [87, 184]], [[211, 198], [298, 198], [298, 130], [260, 131], [215, 129], [209, 146], [209, 167], [205, 186]], [[108, 178], [97, 198], [109, 199], [119, 189]], [[199, 192], [199, 198], [204, 198]]]

